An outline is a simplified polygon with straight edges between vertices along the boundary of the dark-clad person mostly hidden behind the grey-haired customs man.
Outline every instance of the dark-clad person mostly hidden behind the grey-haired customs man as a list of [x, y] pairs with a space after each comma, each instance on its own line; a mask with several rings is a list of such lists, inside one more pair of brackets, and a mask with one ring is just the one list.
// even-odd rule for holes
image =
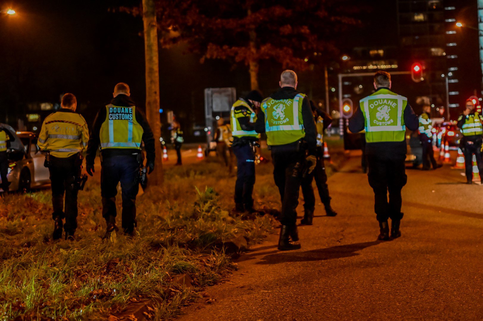
[[312, 181], [315, 179], [317, 190], [319, 191], [320, 200], [324, 204], [327, 216], [336, 216], [337, 212], [330, 206], [329, 188], [327, 186], [327, 173], [324, 164], [324, 130], [332, 122], [326, 112], [323, 112], [315, 106], [314, 102], [310, 101], [313, 117], [315, 119], [315, 127], [317, 129], [317, 162], [312, 174], [305, 175], [302, 180], [302, 195], [304, 199], [304, 217], [300, 223], [312, 225], [313, 211], [315, 209], [315, 195], [313, 193]]

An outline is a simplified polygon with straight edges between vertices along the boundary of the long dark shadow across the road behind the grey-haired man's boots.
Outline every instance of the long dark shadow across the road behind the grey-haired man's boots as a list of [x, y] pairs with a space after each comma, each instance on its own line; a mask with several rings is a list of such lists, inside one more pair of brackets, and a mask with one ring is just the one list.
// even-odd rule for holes
[[256, 264], [277, 264], [283, 262], [306, 262], [306, 261], [324, 261], [332, 259], [340, 259], [343, 257], [351, 257], [359, 255], [357, 251], [364, 250], [369, 246], [377, 245], [381, 241], [372, 241], [364, 243], [354, 243], [347, 245], [332, 246], [327, 249], [318, 249], [305, 252], [281, 252], [266, 255], [262, 261]]

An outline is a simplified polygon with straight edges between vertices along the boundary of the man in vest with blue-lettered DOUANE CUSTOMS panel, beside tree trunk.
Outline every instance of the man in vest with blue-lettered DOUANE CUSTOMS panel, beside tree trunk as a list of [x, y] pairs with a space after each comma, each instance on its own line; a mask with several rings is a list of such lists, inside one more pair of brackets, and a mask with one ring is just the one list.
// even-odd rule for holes
[[136, 235], [135, 202], [139, 191], [137, 178], [142, 165], [142, 142], [146, 150], [148, 174], [154, 170], [155, 160], [153, 132], [144, 114], [129, 97], [129, 86], [116, 84], [113, 96], [111, 103], [97, 113], [85, 159], [87, 173], [92, 176], [100, 145], [100, 193], [102, 217], [106, 220], [104, 238], [117, 230], [115, 196], [119, 182], [122, 190], [122, 227], [126, 235]]

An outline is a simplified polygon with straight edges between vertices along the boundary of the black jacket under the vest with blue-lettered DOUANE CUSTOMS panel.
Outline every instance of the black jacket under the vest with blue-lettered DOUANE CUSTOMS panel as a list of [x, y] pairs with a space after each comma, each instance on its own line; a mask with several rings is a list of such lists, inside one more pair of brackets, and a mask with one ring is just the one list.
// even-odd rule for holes
[[[113, 100], [111, 100], [111, 104], [114, 106], [119, 106], [119, 107], [131, 107], [131, 106], [136, 106], [136, 104], [129, 98], [129, 96], [120, 94], [117, 95]], [[100, 127], [106, 120], [107, 116], [107, 111], [106, 108], [103, 107], [99, 110], [99, 112], [96, 115], [96, 119], [94, 120], [94, 125], [92, 126], [91, 132], [89, 134], [89, 142], [87, 143], [87, 155], [85, 156], [85, 164], [93, 165], [94, 164], [94, 159], [96, 158], [96, 152], [97, 149], [99, 148], [100, 144], [100, 138], [99, 138], [99, 132], [100, 132]], [[141, 125], [142, 130], [144, 131], [142, 133], [142, 141], [144, 142], [144, 149], [146, 150], [146, 158], [147, 161], [153, 161], [155, 159], [155, 140], [153, 137], [153, 131], [151, 130], [151, 127], [149, 126], [146, 116], [144, 116], [144, 113], [139, 110], [139, 108], [136, 108], [136, 121]], [[117, 156], [117, 155], [131, 155], [139, 153], [138, 149], [135, 148], [109, 148], [105, 149], [102, 151], [102, 157], [111, 157], [111, 156]]]

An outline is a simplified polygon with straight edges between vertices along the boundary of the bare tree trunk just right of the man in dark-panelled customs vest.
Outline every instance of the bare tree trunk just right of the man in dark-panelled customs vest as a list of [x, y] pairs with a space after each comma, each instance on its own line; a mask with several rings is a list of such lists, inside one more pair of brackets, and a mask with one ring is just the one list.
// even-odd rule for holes
[[142, 0], [142, 21], [144, 23], [144, 58], [146, 62], [146, 117], [153, 130], [156, 161], [155, 170], [149, 175], [150, 185], [163, 183], [161, 120], [159, 118], [159, 60], [157, 51], [157, 23], [155, 0]]

